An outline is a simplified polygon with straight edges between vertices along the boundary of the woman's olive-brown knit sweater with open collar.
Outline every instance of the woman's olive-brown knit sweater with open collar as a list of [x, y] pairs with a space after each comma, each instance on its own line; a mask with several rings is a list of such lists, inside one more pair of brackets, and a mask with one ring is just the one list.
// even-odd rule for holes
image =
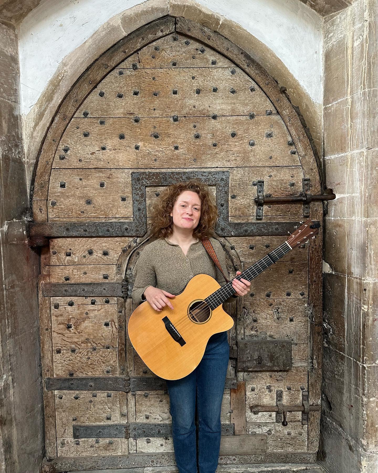
[[[229, 272], [223, 247], [212, 236], [209, 239], [227, 276]], [[134, 268], [135, 281], [131, 297], [135, 304], [145, 301], [142, 295], [147, 286], [154, 286], [177, 296], [188, 284], [190, 278], [197, 274], [212, 276], [220, 286], [226, 283], [223, 274], [215, 266], [199, 239], [189, 246], [185, 255], [180, 245], [170, 242], [167, 238], [158, 238], [148, 243], [140, 252]], [[235, 298], [230, 296], [225, 302], [233, 300]]]

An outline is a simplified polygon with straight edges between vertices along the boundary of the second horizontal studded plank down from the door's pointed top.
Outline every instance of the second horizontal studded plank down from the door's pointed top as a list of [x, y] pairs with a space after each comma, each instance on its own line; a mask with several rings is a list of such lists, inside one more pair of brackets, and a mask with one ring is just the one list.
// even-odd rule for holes
[[266, 115], [266, 110], [277, 114], [266, 94], [239, 68], [172, 67], [124, 69], [122, 75], [112, 70], [75, 117]]

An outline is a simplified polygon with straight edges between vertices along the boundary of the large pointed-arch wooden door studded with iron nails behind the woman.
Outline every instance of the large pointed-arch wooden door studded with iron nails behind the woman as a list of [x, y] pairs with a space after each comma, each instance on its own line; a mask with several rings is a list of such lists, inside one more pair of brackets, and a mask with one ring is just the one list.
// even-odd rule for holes
[[[319, 193], [316, 161], [266, 71], [182, 18], [157, 20], [114, 46], [62, 107], [41, 152], [32, 226], [34, 237], [49, 238], [40, 276], [45, 469], [173, 465], [165, 382], [125, 330], [151, 206], [180, 179], [209, 184], [233, 276], [304, 216], [322, 219], [318, 203], [255, 201]], [[315, 461], [321, 237], [224, 307], [235, 324], [220, 463]]]

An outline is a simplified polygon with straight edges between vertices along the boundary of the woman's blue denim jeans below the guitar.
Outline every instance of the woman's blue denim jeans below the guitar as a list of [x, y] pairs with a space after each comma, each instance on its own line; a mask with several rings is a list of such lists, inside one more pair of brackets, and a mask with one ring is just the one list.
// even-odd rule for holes
[[173, 448], [179, 473], [197, 473], [195, 410], [198, 410], [199, 473], [215, 473], [221, 443], [221, 404], [230, 346], [227, 332], [212, 335], [196, 369], [167, 379]]

